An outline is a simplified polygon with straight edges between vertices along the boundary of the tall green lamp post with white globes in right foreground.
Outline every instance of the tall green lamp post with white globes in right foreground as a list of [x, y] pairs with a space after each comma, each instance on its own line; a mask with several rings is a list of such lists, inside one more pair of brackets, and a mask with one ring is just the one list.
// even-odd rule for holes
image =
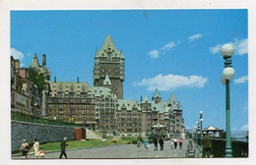
[[230, 100], [229, 83], [234, 76], [234, 70], [231, 66], [231, 55], [234, 48], [227, 43], [222, 46], [221, 53], [224, 57], [224, 72], [222, 83], [225, 85], [225, 157], [232, 157], [231, 131], [230, 131]]

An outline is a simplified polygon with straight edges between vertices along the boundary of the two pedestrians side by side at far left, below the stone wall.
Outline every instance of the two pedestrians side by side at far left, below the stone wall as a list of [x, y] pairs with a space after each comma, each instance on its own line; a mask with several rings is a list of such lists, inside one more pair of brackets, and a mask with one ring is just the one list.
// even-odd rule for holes
[[39, 142], [36, 138], [33, 138], [33, 145], [32, 145], [32, 152], [30, 151], [30, 145], [27, 142], [27, 139], [23, 139], [23, 143], [20, 147], [20, 151], [23, 153], [23, 157], [28, 159], [28, 154], [33, 154], [34, 157], [37, 159], [38, 157], [44, 158], [44, 151], [39, 149]]

